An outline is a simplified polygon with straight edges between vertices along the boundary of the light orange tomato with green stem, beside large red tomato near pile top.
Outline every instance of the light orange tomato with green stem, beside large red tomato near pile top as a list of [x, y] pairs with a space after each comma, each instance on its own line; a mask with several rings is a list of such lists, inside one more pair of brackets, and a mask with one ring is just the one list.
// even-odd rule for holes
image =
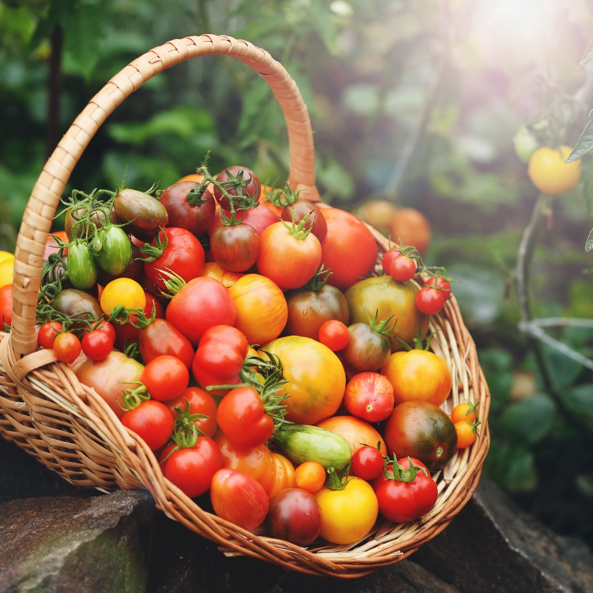
[[[302, 224], [302, 223], [301, 223]], [[301, 288], [321, 263], [321, 244], [310, 231], [276, 222], [260, 237], [257, 269], [280, 288]]]

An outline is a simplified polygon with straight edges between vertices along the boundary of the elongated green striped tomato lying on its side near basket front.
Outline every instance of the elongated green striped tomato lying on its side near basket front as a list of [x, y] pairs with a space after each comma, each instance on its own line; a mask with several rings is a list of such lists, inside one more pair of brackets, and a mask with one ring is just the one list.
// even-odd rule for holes
[[317, 426], [283, 425], [276, 429], [272, 440], [295, 463], [317, 461], [326, 469], [341, 470], [352, 458], [345, 438]]

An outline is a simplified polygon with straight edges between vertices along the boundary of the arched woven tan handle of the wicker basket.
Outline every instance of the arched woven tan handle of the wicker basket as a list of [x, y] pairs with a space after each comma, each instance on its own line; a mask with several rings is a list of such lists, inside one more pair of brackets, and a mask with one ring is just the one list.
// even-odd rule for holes
[[33, 186], [18, 232], [12, 281], [11, 342], [17, 358], [37, 349], [35, 321], [43, 251], [62, 191], [82, 152], [107, 116], [144, 82], [170, 66], [208, 55], [228, 55], [245, 62], [272, 88], [288, 129], [288, 183], [296, 190], [306, 190], [308, 200], [320, 201], [315, 187], [313, 131], [307, 106], [288, 72], [269, 53], [243, 40], [211, 34], [175, 39], [151, 49], [113, 76], [90, 100]]

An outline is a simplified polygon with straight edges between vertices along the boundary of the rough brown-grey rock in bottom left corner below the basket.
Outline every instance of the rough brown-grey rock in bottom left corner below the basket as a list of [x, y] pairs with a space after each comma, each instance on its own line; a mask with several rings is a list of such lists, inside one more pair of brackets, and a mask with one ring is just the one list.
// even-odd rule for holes
[[154, 501], [148, 492], [0, 505], [3, 593], [142, 593]]

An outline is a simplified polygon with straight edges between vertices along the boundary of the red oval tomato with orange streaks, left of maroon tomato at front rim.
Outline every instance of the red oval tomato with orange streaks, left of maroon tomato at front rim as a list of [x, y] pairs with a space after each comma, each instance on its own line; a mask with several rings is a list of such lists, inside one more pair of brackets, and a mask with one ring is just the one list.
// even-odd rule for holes
[[261, 484], [231, 468], [214, 474], [210, 499], [216, 515], [247, 531], [262, 525], [269, 508], [269, 498]]

